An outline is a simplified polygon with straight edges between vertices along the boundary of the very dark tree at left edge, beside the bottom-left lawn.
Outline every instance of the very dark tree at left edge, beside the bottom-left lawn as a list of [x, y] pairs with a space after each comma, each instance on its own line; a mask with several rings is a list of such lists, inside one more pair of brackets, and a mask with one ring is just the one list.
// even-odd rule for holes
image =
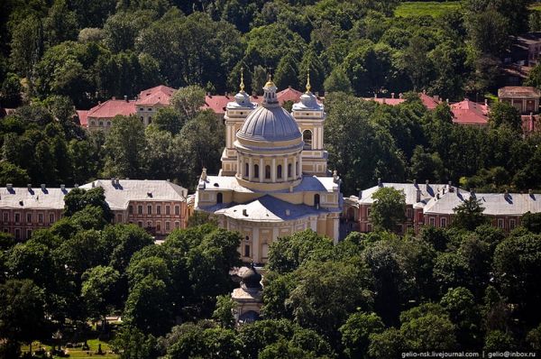
[[[31, 280], [0, 284], [0, 336], [8, 342], [31, 343], [46, 324], [43, 291]], [[16, 348], [15, 348], [16, 349]]]

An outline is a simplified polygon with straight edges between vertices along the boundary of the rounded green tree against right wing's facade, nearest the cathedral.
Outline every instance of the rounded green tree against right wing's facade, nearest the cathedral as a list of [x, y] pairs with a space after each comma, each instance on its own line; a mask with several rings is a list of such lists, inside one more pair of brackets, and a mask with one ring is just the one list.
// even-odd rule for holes
[[397, 189], [383, 187], [372, 195], [370, 220], [374, 228], [394, 231], [404, 221], [406, 195]]

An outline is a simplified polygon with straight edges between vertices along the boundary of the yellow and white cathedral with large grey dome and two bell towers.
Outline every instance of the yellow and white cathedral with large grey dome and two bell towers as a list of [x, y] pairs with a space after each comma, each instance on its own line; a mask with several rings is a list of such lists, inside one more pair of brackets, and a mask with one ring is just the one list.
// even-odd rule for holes
[[271, 78], [259, 106], [243, 87], [241, 80], [240, 92], [226, 106], [222, 169], [217, 176], [203, 170], [196, 210], [241, 233], [245, 262], [267, 262], [272, 241], [308, 228], [336, 242], [340, 179], [327, 170], [326, 114], [310, 92], [309, 78], [291, 113], [280, 106]]

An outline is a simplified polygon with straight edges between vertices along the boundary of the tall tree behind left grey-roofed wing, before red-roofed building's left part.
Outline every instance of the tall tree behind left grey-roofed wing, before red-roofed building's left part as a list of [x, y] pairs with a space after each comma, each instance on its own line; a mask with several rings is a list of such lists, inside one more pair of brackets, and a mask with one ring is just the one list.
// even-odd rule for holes
[[144, 126], [135, 116], [116, 115], [105, 137], [105, 178], [141, 178], [146, 145]]

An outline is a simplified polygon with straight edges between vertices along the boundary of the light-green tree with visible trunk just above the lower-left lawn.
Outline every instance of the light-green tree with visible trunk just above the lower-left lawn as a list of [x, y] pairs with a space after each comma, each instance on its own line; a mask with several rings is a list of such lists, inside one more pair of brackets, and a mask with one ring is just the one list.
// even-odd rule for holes
[[85, 300], [90, 318], [101, 318], [105, 327], [105, 316], [109, 306], [118, 298], [118, 281], [120, 274], [111, 267], [98, 265], [87, 270], [82, 276], [81, 296]]

